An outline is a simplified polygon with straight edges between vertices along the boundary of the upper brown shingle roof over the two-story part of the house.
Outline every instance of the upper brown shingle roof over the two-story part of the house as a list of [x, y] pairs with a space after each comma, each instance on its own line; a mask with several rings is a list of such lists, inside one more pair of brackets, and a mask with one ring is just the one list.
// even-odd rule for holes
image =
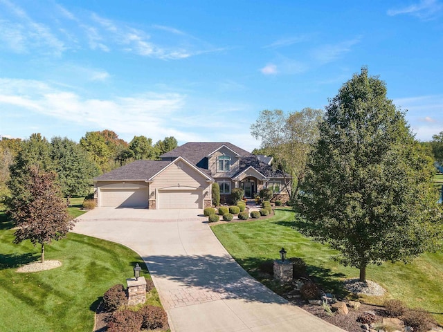
[[172, 151], [162, 154], [160, 157], [165, 159], [177, 158], [181, 156], [189, 160], [194, 165], [197, 165], [204, 157], [213, 153], [223, 145], [226, 145], [226, 147], [235, 151], [235, 153], [239, 154], [239, 156], [252, 156], [250, 152], [228, 142], [188, 142], [180, 147], [176, 147]]

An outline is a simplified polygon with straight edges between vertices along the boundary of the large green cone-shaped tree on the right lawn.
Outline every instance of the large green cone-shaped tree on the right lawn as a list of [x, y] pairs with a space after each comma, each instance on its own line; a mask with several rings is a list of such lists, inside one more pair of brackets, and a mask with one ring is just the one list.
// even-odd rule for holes
[[299, 195], [301, 231], [340, 250], [361, 281], [369, 264], [408, 262], [437, 248], [431, 158], [386, 84], [363, 67], [329, 100], [319, 130]]

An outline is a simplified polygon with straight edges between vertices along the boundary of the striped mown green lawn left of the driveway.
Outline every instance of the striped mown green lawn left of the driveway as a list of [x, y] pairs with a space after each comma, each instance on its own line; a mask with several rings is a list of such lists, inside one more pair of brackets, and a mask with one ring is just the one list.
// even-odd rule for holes
[[[19, 266], [38, 261], [39, 247], [29, 241], [13, 244], [11, 228], [0, 211], [1, 331], [92, 331], [103, 293], [114, 284], [125, 284], [136, 263], [145, 267], [129, 248], [69, 233], [45, 247], [45, 258], [62, 261], [60, 268], [17, 273]], [[158, 297], [150, 301], [158, 302]]]

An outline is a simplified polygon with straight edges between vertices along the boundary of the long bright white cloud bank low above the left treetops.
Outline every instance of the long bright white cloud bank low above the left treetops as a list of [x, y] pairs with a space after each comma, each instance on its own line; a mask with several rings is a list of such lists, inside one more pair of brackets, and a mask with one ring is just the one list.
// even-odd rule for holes
[[26, 109], [73, 124], [112, 128], [121, 133], [163, 131], [185, 98], [178, 93], [148, 92], [110, 100], [86, 99], [42, 82], [0, 79], [0, 104], [5, 111]]

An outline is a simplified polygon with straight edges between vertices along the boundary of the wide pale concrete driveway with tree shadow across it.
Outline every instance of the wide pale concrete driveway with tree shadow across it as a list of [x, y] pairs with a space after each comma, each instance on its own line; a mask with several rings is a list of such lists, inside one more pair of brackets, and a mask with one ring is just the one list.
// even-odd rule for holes
[[[287, 302], [244, 271], [203, 210], [96, 208], [73, 232], [121, 243], [145, 261], [171, 331], [344, 331]], [[128, 270], [128, 277], [132, 271]]]

